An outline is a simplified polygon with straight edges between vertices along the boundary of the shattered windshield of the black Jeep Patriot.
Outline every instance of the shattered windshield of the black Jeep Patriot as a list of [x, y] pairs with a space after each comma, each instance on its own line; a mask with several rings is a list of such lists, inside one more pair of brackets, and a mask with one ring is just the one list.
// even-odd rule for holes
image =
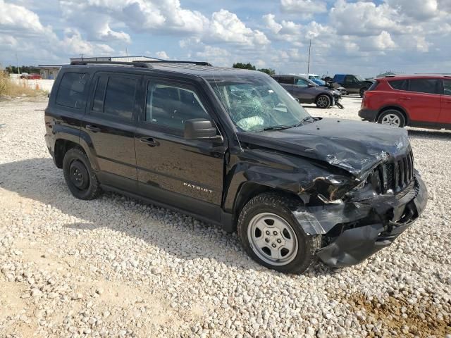
[[293, 127], [309, 113], [275, 80], [266, 76], [209, 80], [233, 123], [246, 132]]

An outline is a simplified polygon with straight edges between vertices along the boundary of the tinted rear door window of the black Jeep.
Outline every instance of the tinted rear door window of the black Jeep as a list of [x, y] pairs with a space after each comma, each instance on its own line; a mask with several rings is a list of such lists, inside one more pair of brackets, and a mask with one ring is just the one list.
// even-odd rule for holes
[[97, 80], [92, 111], [132, 120], [137, 80], [131, 77], [101, 76]]

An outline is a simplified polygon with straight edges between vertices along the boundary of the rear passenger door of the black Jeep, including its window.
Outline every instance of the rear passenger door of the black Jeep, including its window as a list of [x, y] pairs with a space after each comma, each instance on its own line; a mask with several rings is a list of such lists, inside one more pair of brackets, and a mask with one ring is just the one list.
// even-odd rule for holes
[[82, 121], [82, 135], [92, 148], [99, 179], [120, 189], [137, 185], [135, 130], [137, 89], [141, 77], [121, 73], [97, 73], [91, 104]]

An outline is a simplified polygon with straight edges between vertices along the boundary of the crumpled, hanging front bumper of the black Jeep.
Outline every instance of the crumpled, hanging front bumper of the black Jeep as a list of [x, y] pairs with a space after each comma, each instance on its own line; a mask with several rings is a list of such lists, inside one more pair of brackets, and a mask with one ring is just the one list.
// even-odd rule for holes
[[412, 184], [399, 194], [293, 211], [308, 235], [322, 234], [317, 256], [330, 266], [354, 265], [389, 246], [426, 208], [428, 192], [415, 170]]

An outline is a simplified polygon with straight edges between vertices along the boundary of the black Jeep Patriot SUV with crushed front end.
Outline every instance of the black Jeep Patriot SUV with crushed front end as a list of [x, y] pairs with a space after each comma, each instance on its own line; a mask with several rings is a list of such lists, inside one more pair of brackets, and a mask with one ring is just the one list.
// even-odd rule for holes
[[110, 190], [216, 223], [284, 273], [359, 263], [426, 207], [405, 130], [312, 117], [252, 70], [73, 63], [45, 125], [78, 199]]

